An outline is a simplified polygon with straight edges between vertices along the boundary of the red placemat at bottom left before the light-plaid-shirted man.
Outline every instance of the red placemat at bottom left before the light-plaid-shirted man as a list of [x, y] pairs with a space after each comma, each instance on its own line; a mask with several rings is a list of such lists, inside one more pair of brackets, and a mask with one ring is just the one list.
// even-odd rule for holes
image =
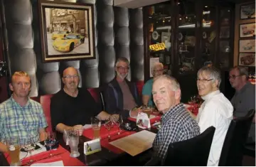
[[[50, 153], [53, 154], [52, 157], [49, 157]], [[58, 156], [56, 154], [58, 154]], [[54, 155], [56, 155], [56, 156], [54, 156]], [[9, 156], [9, 153], [5, 153], [4, 156], [8, 156], [7, 161], [9, 163], [11, 163], [11, 157]], [[61, 159], [55, 160], [55, 157], [57, 157], [57, 158], [60, 157]], [[45, 159], [43, 159], [43, 158], [45, 158]], [[59, 146], [58, 149], [56, 149], [56, 150], [44, 151], [44, 152], [38, 153], [34, 156], [29, 156], [27, 158], [23, 158], [21, 160], [21, 163], [23, 164], [23, 166], [26, 166], [26, 163], [28, 163], [31, 159], [33, 159], [33, 161], [36, 161], [35, 163], [49, 163], [49, 162], [53, 162], [53, 161], [62, 160], [64, 163], [64, 166], [86, 166], [84, 163], [79, 161], [78, 158], [70, 157], [70, 152], [68, 150], [64, 149], [62, 146]], [[38, 159], [42, 159], [42, 160], [37, 161]]]

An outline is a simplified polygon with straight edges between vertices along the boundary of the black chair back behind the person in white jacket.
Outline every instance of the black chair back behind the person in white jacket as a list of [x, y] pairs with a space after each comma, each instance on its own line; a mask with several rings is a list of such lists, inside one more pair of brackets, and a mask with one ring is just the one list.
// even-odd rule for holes
[[220, 154], [219, 166], [242, 166], [243, 151], [254, 115], [255, 109], [251, 109], [245, 117], [230, 122]]

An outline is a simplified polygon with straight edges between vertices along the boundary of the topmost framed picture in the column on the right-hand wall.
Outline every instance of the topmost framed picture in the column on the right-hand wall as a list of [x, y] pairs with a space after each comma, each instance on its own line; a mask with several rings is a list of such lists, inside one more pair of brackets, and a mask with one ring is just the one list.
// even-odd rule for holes
[[255, 18], [255, 3], [240, 6], [240, 19]]

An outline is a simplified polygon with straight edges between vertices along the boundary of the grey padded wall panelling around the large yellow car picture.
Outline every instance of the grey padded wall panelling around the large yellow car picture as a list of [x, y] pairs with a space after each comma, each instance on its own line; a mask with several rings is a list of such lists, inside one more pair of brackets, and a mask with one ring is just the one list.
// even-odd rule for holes
[[114, 7], [113, 0], [77, 0], [95, 4], [96, 59], [43, 63], [38, 1], [1, 1], [4, 1], [11, 73], [28, 72], [32, 80], [31, 97], [58, 92], [62, 86], [60, 74], [69, 66], [79, 70], [80, 87], [100, 87], [114, 78], [114, 63], [119, 57], [130, 60], [129, 80], [144, 80], [142, 9]]

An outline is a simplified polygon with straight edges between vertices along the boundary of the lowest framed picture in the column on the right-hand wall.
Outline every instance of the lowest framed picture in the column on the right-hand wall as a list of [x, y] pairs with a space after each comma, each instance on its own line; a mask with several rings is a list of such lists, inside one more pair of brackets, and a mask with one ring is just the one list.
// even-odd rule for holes
[[239, 53], [239, 65], [255, 66], [255, 53]]

